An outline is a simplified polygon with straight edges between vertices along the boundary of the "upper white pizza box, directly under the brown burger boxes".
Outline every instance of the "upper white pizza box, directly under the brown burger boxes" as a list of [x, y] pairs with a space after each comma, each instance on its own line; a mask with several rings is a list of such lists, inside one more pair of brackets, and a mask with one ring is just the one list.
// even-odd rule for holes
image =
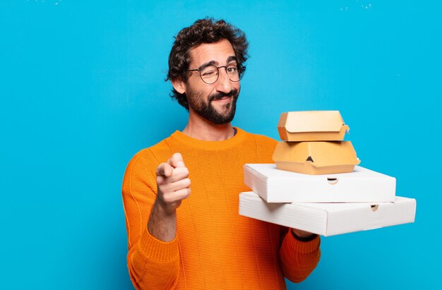
[[268, 203], [388, 203], [395, 201], [396, 179], [366, 169], [309, 175], [275, 164], [244, 164], [244, 183]]

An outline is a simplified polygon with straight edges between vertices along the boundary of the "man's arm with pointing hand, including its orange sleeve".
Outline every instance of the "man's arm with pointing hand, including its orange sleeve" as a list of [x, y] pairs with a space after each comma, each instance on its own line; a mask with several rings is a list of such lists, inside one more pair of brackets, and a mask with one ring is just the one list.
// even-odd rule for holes
[[184, 166], [180, 167], [184, 165], [179, 163], [180, 157], [173, 155], [155, 172], [136, 155], [126, 169], [123, 201], [129, 246], [127, 262], [136, 289], [173, 289], [177, 283], [175, 212], [181, 203], [177, 197], [189, 195], [189, 189], [181, 191], [185, 187], [180, 186], [190, 185], [189, 180], [183, 181], [189, 173]]

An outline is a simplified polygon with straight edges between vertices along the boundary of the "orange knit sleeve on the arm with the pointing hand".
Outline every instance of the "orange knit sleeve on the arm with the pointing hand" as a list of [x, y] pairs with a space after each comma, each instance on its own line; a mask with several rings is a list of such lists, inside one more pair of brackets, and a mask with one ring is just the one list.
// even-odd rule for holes
[[133, 286], [174, 289], [179, 275], [178, 239], [167, 243], [159, 241], [147, 229], [156, 197], [156, 181], [138, 155], [126, 169], [122, 195], [129, 248], [127, 266]]

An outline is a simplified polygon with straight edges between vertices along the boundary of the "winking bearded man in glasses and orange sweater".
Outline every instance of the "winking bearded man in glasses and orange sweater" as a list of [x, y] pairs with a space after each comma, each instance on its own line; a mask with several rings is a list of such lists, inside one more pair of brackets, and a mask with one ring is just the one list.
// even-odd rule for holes
[[320, 238], [242, 217], [243, 165], [273, 163], [276, 141], [232, 126], [248, 42], [212, 18], [175, 37], [167, 79], [189, 110], [183, 131], [138, 152], [123, 200], [136, 289], [286, 289], [320, 258]]

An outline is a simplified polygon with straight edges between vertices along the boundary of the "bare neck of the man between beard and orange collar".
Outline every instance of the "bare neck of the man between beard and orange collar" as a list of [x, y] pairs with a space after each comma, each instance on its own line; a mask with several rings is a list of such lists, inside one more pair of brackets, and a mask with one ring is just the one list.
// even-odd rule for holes
[[189, 118], [183, 133], [198, 140], [222, 141], [232, 138], [235, 131], [231, 123], [216, 125], [202, 118]]

